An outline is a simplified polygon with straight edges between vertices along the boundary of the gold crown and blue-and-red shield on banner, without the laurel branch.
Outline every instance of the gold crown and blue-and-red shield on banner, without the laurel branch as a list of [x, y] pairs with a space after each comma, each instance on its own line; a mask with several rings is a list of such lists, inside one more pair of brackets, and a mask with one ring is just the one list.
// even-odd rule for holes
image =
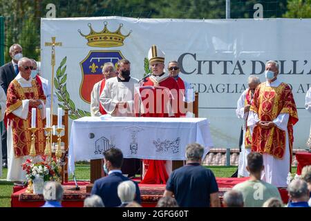
[[[104, 29], [100, 32], [93, 30], [91, 23], [88, 23], [90, 33], [88, 35], [82, 34], [81, 30], [78, 30], [82, 37], [88, 40], [88, 46], [111, 48], [123, 46], [123, 41], [131, 34], [131, 31], [127, 35], [122, 35], [121, 23], [119, 28], [115, 32], [111, 32], [107, 28], [107, 22], [104, 22]], [[96, 82], [103, 79], [102, 67], [106, 62], [112, 62], [116, 64], [118, 60], [124, 58], [120, 50], [91, 50], [88, 52], [86, 58], [80, 62], [82, 70], [82, 83], [80, 85], [80, 96], [84, 102], [91, 102], [91, 92]]]

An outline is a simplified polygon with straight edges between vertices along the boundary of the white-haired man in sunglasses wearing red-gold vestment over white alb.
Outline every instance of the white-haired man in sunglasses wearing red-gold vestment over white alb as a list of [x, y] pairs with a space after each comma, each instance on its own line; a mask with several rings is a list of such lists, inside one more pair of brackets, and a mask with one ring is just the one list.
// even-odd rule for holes
[[26, 57], [19, 60], [19, 74], [8, 86], [6, 122], [8, 123], [8, 176], [12, 182], [25, 182], [26, 173], [21, 164], [29, 157], [32, 125], [32, 108], [36, 109], [35, 150], [44, 154], [44, 122], [46, 97], [41, 86], [30, 77], [32, 61]]

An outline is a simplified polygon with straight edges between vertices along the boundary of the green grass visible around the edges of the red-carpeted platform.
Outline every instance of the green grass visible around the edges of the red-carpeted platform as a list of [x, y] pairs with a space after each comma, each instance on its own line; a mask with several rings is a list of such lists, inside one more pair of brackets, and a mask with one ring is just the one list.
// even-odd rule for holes
[[[236, 171], [236, 166], [207, 166], [214, 172], [216, 177], [231, 177]], [[8, 169], [3, 169], [2, 177], [0, 177], [0, 207], [11, 206], [11, 194], [13, 191], [13, 183], [5, 181]], [[292, 173], [296, 173], [296, 167], [292, 168]], [[75, 175], [77, 180], [90, 179], [90, 165], [89, 164], [76, 164]], [[69, 180], [73, 180], [70, 176]]]

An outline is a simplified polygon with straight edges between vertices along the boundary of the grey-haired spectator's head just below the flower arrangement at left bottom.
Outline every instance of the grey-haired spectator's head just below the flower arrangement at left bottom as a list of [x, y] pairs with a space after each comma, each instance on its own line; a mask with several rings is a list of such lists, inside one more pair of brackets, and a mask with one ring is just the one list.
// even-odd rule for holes
[[46, 182], [44, 184], [44, 200], [61, 202], [63, 199], [63, 187], [59, 182]]

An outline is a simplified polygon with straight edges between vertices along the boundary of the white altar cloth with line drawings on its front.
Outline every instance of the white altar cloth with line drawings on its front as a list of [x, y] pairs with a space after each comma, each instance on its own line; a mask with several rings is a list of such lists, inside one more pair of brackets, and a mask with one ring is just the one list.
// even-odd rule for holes
[[206, 118], [82, 117], [72, 124], [68, 172], [76, 161], [102, 159], [109, 148], [120, 148], [124, 158], [185, 160], [194, 142], [205, 147], [204, 156], [213, 146]]

